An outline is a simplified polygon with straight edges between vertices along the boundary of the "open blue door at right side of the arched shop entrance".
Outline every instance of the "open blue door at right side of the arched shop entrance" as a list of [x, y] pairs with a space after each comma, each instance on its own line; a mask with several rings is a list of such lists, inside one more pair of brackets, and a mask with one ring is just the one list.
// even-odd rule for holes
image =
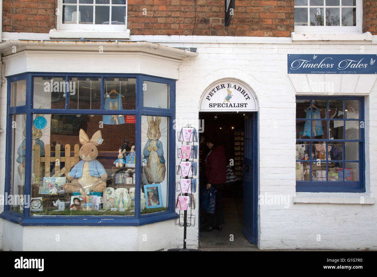
[[244, 134], [244, 199], [242, 233], [250, 243], [257, 242], [257, 113], [245, 116]]

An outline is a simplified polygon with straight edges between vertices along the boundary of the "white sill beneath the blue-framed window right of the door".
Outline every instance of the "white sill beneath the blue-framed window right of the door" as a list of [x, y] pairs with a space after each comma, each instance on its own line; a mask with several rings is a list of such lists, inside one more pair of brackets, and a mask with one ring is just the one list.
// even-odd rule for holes
[[[363, 198], [362, 198], [363, 197]], [[366, 193], [296, 193], [293, 204], [374, 205], [375, 198]]]

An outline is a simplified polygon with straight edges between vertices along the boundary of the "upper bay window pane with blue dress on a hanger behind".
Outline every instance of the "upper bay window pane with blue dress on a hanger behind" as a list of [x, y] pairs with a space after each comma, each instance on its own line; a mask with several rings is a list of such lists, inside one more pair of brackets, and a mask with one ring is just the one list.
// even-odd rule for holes
[[[110, 105], [111, 103], [111, 105]], [[135, 110], [136, 79], [105, 78], [105, 110]], [[106, 123], [116, 124], [116, 123]]]

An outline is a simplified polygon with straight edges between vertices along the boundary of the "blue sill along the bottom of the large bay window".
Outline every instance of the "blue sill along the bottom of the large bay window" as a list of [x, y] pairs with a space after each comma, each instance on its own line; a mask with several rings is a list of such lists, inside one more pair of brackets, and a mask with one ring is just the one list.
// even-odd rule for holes
[[177, 213], [166, 211], [159, 214], [150, 214], [141, 216], [139, 219], [135, 217], [125, 218], [119, 217], [100, 217], [100, 216], [32, 216], [23, 218], [20, 214], [13, 211], [4, 211], [0, 214], [0, 218], [21, 226], [45, 225], [45, 226], [141, 226], [166, 220], [175, 219]]

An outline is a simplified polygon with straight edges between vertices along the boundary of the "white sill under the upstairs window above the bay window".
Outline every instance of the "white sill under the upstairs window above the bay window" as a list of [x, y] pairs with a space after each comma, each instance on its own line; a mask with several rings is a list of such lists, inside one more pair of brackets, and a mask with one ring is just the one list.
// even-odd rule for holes
[[130, 30], [125, 31], [79, 31], [79, 30], [56, 30], [49, 32], [50, 38], [130, 38]]

